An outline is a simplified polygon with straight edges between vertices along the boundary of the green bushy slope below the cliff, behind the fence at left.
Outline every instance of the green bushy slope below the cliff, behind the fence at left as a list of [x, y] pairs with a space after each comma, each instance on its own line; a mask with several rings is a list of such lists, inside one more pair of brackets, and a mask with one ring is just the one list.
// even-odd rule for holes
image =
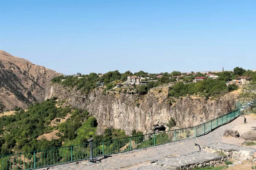
[[[16, 110], [20, 110], [15, 114], [0, 117], [0, 127], [3, 127], [0, 130], [2, 135], [0, 154], [8, 155], [42, 150], [60, 147], [63, 144], [66, 146], [87, 143], [87, 139], [91, 137], [102, 140], [125, 136], [123, 130], [114, 128], [107, 128], [105, 135], [96, 136], [97, 120], [91, 117], [87, 111], [72, 110], [70, 107], [56, 107], [56, 105], [55, 98], [47, 99], [44, 102], [30, 105], [26, 112], [16, 108]], [[69, 118], [61, 123], [61, 119], [64, 119], [65, 116], [69, 116]], [[51, 140], [38, 138], [52, 131], [57, 131], [55, 134], [57, 137]]]

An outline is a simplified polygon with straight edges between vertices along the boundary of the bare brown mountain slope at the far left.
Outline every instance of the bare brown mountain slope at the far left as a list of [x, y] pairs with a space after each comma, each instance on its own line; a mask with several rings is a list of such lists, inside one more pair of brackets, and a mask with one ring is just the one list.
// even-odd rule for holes
[[0, 50], [0, 112], [44, 101], [47, 84], [60, 75]]

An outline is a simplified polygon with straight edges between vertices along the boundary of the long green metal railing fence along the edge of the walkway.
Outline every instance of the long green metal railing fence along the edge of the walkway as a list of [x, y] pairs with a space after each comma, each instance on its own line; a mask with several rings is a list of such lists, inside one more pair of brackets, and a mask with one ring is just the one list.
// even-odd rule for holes
[[[93, 157], [157, 146], [204, 135], [240, 115], [236, 109], [201, 125], [142, 136], [93, 142]], [[89, 143], [0, 156], [0, 170], [31, 170], [90, 158]]]

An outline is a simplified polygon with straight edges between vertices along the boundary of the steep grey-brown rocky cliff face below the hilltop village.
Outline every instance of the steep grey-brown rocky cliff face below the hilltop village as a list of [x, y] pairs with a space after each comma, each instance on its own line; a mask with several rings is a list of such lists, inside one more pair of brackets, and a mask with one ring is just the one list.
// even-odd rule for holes
[[76, 88], [64, 88], [62, 85], [49, 84], [45, 99], [57, 97], [65, 100], [65, 105], [89, 111], [96, 117], [99, 133], [105, 127], [114, 127], [125, 130], [130, 134], [133, 129], [143, 133], [165, 130], [169, 118], [172, 116], [179, 127], [189, 127], [206, 122], [221, 115], [221, 101], [178, 99], [170, 105], [167, 97], [147, 95], [107, 94], [101, 89], [91, 91], [88, 95], [82, 94]]

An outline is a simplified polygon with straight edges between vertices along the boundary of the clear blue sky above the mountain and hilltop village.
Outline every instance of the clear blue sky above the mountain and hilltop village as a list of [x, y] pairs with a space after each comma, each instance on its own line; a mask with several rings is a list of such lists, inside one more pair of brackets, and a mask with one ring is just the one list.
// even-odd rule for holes
[[0, 48], [63, 74], [256, 69], [256, 1], [0, 0]]

